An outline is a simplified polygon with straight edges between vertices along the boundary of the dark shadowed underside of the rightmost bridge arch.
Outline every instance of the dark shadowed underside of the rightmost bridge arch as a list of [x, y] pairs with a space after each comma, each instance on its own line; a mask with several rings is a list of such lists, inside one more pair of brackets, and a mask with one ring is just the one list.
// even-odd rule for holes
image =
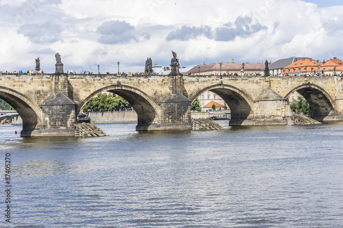
[[323, 121], [324, 118], [335, 111], [328, 97], [316, 88], [300, 88], [296, 92], [309, 103], [312, 111], [311, 117], [317, 121]]

